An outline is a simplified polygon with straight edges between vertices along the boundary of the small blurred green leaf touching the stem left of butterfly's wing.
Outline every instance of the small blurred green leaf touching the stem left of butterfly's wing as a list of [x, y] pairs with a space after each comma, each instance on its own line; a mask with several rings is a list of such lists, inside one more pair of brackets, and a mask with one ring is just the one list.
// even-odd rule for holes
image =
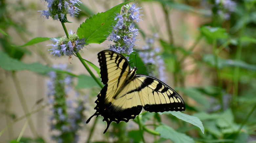
[[[100, 80], [98, 78], [98, 80]], [[96, 81], [89, 75], [85, 75], [85, 74], [80, 74], [78, 76], [78, 82], [76, 85], [76, 89], [81, 89], [81, 88], [91, 88], [91, 87], [96, 87], [98, 86], [98, 84], [96, 83]]]

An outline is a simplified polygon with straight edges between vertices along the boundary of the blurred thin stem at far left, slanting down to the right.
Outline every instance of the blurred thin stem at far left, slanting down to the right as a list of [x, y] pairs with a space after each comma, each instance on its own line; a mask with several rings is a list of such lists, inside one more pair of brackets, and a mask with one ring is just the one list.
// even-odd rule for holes
[[[23, 92], [22, 92], [22, 90], [21, 90], [19, 81], [18, 81], [18, 79], [17, 79], [17, 77], [16, 77], [15, 71], [12, 72], [12, 80], [13, 80], [14, 86], [15, 86], [15, 88], [16, 88], [17, 95], [18, 95], [18, 97], [19, 97], [19, 100], [20, 100], [22, 109], [23, 109], [23, 111], [24, 111], [25, 114], [28, 114], [28, 113], [29, 113], [29, 108], [28, 108], [28, 106], [27, 106], [25, 97], [24, 97]], [[35, 126], [34, 126], [32, 120], [29, 120], [29, 127], [30, 127], [30, 129], [31, 129], [31, 132], [32, 132], [33, 136], [34, 136], [34, 137], [37, 137], [38, 134], [37, 134], [37, 132], [36, 132], [36, 129], [35, 129]]]

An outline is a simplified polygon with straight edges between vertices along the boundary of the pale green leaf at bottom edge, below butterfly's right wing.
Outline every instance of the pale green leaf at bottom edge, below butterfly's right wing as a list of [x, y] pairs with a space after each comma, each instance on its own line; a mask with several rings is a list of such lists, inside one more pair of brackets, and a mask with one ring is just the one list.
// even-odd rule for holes
[[186, 134], [176, 132], [173, 128], [167, 125], [158, 126], [156, 131], [160, 133], [160, 137], [170, 139], [173, 143], [195, 143], [193, 138]]

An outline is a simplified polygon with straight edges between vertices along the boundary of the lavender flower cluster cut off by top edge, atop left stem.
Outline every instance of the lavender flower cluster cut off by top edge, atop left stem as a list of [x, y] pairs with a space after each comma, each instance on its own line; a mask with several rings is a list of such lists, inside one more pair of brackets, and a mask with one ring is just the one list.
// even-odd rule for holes
[[[41, 0], [41, 2], [42, 1], [43, 0]], [[45, 2], [47, 2], [47, 10], [40, 10], [39, 12], [41, 12], [41, 15], [45, 16], [46, 19], [49, 19], [49, 16], [51, 16], [53, 20], [60, 19], [60, 21], [67, 21], [67, 14], [73, 17], [81, 11], [76, 7], [79, 3], [81, 4], [79, 0], [45, 0]]]

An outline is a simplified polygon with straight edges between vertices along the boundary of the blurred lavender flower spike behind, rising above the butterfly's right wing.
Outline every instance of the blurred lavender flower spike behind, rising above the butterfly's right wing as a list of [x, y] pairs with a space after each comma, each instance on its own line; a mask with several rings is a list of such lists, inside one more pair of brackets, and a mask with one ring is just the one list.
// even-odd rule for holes
[[154, 34], [153, 38], [148, 38], [146, 40], [147, 45], [142, 47], [141, 52], [139, 52], [139, 56], [144, 64], [152, 64], [147, 66], [147, 71], [150, 76], [158, 77], [160, 81], [165, 82], [166, 78], [164, 76], [165, 65], [164, 61], [159, 55], [160, 47], [154, 48], [154, 38], [157, 38], [158, 35]]

